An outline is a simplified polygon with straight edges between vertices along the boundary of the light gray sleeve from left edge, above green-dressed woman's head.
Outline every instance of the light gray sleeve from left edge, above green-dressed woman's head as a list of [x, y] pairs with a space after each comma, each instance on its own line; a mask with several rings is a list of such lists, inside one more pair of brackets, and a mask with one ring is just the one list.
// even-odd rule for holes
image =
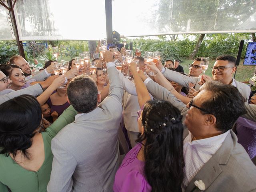
[[40, 84], [35, 84], [33, 86], [29, 86], [27, 88], [18, 90], [18, 91], [13, 91], [10, 92], [8, 94], [4, 94], [1, 95], [0, 92], [0, 104], [14, 98], [14, 97], [18, 97], [20, 95], [24, 95], [24, 94], [28, 94], [28, 95], [33, 95], [33, 96], [38, 96], [40, 94], [42, 94], [43, 90], [42, 87], [40, 86]]

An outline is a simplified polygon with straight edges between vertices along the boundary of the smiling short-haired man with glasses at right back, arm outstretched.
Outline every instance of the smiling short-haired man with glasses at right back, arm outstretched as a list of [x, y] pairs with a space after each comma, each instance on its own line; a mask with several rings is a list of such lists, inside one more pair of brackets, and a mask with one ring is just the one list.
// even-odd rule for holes
[[[188, 77], [184, 76], [178, 72], [171, 71], [164, 68], [162, 65], [157, 65], [159, 70], [164, 74], [164, 76], [171, 81], [180, 84], [183, 87], [189, 88], [189, 83], [195, 84], [194, 89], [198, 90], [200, 85], [200, 77]], [[248, 101], [250, 96], [250, 87], [244, 83], [236, 81], [232, 76], [236, 71], [236, 58], [230, 55], [221, 55], [216, 58], [216, 62], [212, 69], [212, 78], [223, 84], [231, 84], [235, 86], [238, 91], [242, 94], [245, 101]]]

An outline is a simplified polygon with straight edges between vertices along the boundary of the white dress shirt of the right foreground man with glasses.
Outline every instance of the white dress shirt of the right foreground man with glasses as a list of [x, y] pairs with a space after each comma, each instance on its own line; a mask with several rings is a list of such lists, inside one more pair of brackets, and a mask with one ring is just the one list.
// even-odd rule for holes
[[222, 146], [229, 132], [230, 130], [218, 136], [194, 141], [192, 141], [193, 135], [190, 132], [188, 133], [188, 136], [183, 141], [185, 166], [183, 168], [184, 179], [182, 191], [185, 191], [192, 178], [194, 178], [202, 166], [204, 166], [220, 146]]

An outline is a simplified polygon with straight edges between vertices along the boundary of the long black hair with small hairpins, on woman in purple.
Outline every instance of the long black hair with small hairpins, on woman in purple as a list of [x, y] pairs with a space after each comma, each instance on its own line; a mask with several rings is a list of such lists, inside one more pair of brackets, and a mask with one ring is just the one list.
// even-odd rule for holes
[[183, 125], [180, 111], [168, 101], [150, 100], [142, 112], [144, 174], [152, 192], [181, 192], [183, 180]]

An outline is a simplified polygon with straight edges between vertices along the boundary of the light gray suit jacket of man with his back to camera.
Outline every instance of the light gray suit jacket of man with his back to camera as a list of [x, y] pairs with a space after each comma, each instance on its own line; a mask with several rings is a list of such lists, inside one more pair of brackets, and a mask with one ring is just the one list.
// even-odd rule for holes
[[110, 192], [120, 165], [118, 128], [123, 88], [115, 67], [108, 68], [109, 96], [82, 114], [52, 140], [48, 192]]

